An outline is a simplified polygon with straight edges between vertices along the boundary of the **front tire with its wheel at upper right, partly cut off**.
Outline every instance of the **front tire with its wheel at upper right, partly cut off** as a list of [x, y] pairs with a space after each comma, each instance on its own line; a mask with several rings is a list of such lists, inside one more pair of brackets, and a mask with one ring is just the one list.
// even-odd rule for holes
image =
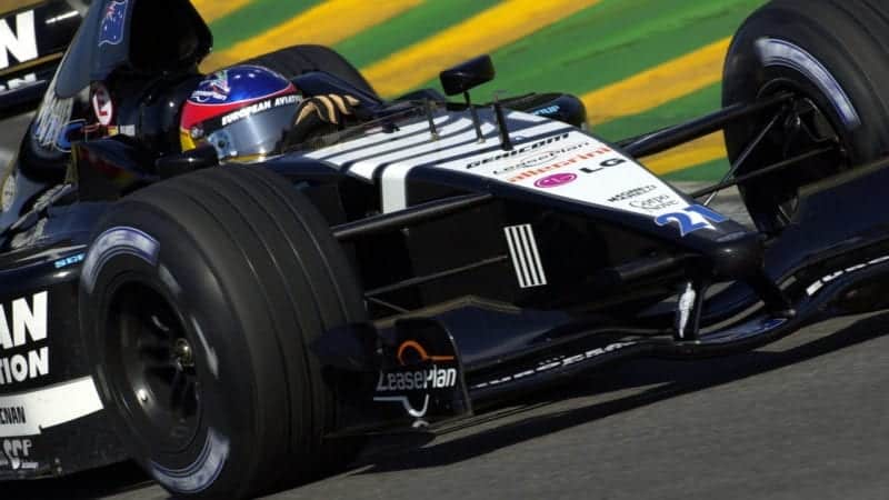
[[[773, 0], [738, 30], [722, 81], [723, 106], [779, 92], [795, 96], [736, 177], [830, 142], [837, 146], [835, 152], [741, 186], [759, 229], [778, 232], [792, 221], [801, 186], [889, 151], [889, 6], [880, 0]], [[775, 113], [726, 129], [732, 162]]]

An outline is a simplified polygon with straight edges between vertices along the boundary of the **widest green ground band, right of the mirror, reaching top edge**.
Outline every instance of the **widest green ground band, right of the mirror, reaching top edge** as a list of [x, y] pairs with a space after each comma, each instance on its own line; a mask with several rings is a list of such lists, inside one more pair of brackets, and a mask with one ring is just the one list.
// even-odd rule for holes
[[605, 0], [496, 51], [492, 86], [582, 94], [731, 36], [762, 2]]

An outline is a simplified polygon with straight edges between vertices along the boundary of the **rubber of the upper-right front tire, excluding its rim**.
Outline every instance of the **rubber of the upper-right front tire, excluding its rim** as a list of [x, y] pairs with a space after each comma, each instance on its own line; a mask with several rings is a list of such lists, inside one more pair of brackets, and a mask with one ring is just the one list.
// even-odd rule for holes
[[[840, 43], [837, 39], [840, 33], [830, 32], [825, 26], [823, 12], [810, 16], [798, 12], [798, 6], [786, 3], [765, 6], [739, 29], [726, 60], [723, 106], [753, 102], [779, 90], [792, 90], [811, 100], [830, 122], [840, 140], [847, 167], [880, 158], [889, 149], [889, 114], [879, 99], [881, 89], [875, 88], [872, 79], [863, 77], [861, 62], [877, 57], [876, 48], [853, 47], [852, 50], [860, 53], [847, 53], [849, 46]], [[812, 9], [827, 7], [811, 6]], [[772, 54], [776, 50], [786, 50], [790, 62], [772, 60], [767, 63], [761, 53], [763, 43]], [[730, 160], [738, 158], [763, 124], [759, 120], [746, 120], [726, 128]], [[749, 173], [762, 167], [755, 163], [748, 162], [737, 173]], [[740, 187], [740, 191], [753, 219], [758, 224], [765, 223], [761, 228], [769, 228], [772, 207], [769, 194], [760, 192], [762, 188], [771, 189], [751, 182]]]

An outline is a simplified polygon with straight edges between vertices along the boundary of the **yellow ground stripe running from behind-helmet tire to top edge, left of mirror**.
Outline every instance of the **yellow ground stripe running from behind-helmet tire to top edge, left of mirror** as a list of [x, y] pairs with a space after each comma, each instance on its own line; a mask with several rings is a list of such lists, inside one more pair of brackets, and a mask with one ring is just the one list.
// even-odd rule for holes
[[506, 0], [362, 70], [382, 96], [411, 90], [441, 70], [512, 43], [599, 0]]

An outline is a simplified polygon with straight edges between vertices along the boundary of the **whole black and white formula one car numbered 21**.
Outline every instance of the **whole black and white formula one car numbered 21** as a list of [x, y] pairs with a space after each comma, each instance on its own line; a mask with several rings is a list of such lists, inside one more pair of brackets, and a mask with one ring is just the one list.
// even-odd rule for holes
[[[93, 1], [48, 84], [0, 199], [3, 479], [131, 458], [178, 496], [249, 497], [368, 433], [434, 431], [607, 362], [889, 308], [876, 0], [766, 4], [731, 44], [723, 109], [616, 143], [572, 96], [472, 104], [487, 57], [441, 73], [459, 102], [386, 101], [296, 46], [252, 63], [364, 112], [271, 128], [229, 161], [279, 102], [183, 148], [186, 102], [236, 86], [196, 92], [210, 47], [186, 0]], [[711, 188], [639, 163], [718, 130], [731, 170]], [[756, 229], [708, 208], [735, 186]]]

